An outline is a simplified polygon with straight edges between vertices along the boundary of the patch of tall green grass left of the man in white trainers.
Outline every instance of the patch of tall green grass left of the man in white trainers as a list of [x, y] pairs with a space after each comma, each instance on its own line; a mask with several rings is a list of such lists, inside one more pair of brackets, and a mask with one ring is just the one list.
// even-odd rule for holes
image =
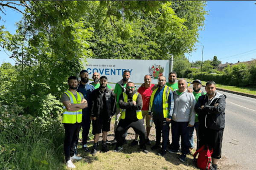
[[48, 122], [46, 128], [31, 116], [7, 113], [2, 114], [0, 126], [0, 170], [63, 170], [61, 123]]

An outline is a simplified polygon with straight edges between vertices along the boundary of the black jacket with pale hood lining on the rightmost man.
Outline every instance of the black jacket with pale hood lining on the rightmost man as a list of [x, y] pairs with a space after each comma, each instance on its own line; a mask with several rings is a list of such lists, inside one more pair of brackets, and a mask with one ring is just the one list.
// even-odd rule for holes
[[[195, 105], [199, 124], [212, 130], [223, 129], [225, 127], [226, 98], [225, 95], [216, 92], [212, 102], [209, 103], [207, 94], [200, 96]], [[218, 106], [214, 106], [217, 103]], [[202, 105], [204, 105], [203, 109]]]

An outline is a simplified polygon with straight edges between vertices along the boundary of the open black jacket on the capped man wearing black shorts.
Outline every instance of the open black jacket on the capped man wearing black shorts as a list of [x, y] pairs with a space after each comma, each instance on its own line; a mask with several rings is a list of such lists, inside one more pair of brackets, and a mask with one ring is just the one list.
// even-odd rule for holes
[[111, 89], [106, 88], [105, 98], [103, 98], [103, 92], [101, 89], [95, 89], [91, 94], [91, 116], [99, 118], [104, 103], [106, 105], [105, 112], [108, 113], [108, 117], [110, 118], [116, 112], [116, 98], [114, 92]]

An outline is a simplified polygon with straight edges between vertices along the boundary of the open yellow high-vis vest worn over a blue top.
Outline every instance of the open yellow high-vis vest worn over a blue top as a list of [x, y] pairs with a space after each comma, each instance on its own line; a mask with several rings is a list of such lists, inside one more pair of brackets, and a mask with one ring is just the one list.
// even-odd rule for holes
[[[158, 87], [159, 88], [159, 87]], [[156, 88], [153, 93], [151, 94], [151, 97], [150, 97], [150, 107], [149, 107], [149, 111], [151, 111], [152, 109], [152, 106], [153, 106], [153, 100], [154, 100], [154, 95], [156, 94], [157, 92], [157, 89]], [[163, 118], [166, 118], [168, 117], [168, 107], [169, 107], [169, 103], [168, 103], [168, 96], [170, 94], [170, 91], [172, 90], [173, 88], [171, 87], [168, 87], [167, 85], [164, 87], [163, 89]]]

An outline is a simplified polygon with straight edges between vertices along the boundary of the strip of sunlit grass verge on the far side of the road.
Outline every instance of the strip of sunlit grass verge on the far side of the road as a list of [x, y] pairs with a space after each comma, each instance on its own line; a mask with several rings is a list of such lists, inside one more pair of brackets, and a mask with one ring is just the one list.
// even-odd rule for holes
[[[188, 82], [192, 82], [193, 80], [188, 79]], [[202, 81], [202, 85], [205, 85], [206, 82]], [[253, 94], [256, 95], [256, 88], [246, 88], [246, 87], [236, 87], [236, 86], [229, 86], [229, 85], [219, 85], [216, 84], [217, 88], [229, 90], [229, 91], [236, 91], [244, 94]]]

